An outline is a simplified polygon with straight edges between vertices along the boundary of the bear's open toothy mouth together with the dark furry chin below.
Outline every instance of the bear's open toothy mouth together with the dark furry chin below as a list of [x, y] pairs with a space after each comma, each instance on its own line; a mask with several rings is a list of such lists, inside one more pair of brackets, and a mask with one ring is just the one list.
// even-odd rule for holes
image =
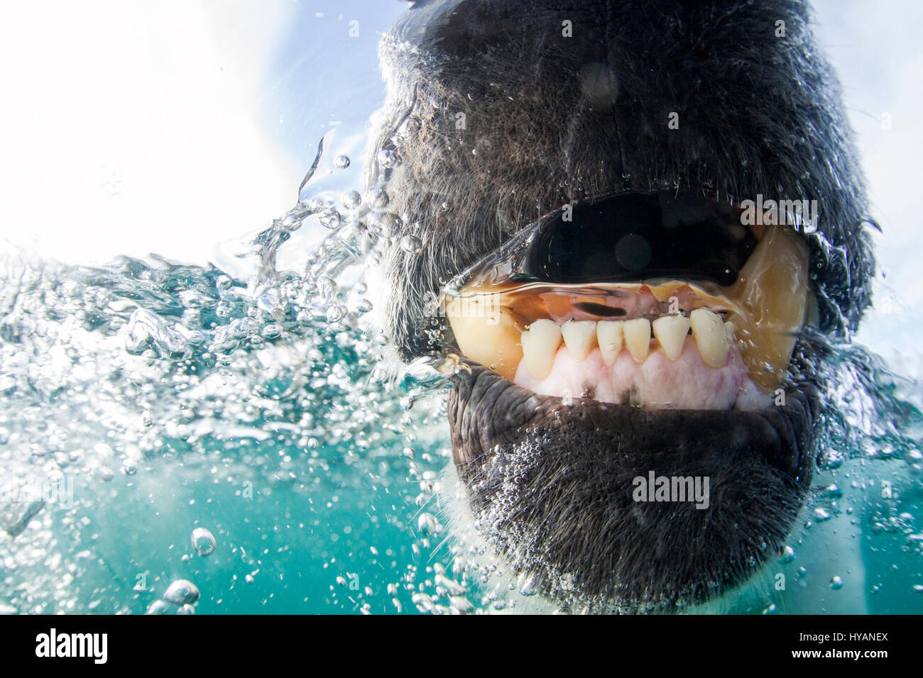
[[[784, 543], [816, 409], [789, 375], [808, 247], [797, 215], [741, 214], [665, 191], [566, 206], [450, 285], [454, 460], [488, 536], [545, 592], [700, 602]], [[708, 510], [633, 498], [652, 473], [709, 479]]]

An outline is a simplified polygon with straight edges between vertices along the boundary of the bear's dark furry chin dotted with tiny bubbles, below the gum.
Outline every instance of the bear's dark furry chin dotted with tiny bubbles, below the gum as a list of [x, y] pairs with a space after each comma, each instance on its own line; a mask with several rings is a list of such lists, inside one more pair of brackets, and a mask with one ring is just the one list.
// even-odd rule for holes
[[[762, 410], [642, 410], [539, 396], [464, 363], [453, 459], [474, 523], [535, 590], [589, 612], [673, 612], [778, 555], [809, 486], [816, 398]], [[707, 506], [635, 479], [710, 479]], [[691, 497], [689, 497], [691, 499]]]

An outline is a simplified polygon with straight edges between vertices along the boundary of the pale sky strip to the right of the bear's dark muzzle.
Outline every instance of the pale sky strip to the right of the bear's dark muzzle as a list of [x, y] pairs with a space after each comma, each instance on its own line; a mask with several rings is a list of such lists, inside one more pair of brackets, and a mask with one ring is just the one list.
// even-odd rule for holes
[[[874, 309], [858, 339], [905, 375], [923, 375], [923, 3], [913, 0], [815, 0], [818, 38], [844, 88], [869, 179], [878, 281]], [[889, 114], [891, 126], [882, 125]]]

